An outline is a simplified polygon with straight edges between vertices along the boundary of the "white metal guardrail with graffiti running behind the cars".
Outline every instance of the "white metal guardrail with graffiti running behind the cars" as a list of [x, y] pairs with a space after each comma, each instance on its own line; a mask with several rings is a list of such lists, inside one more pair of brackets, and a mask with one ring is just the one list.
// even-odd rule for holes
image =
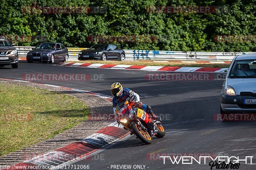
[[[28, 51], [35, 47], [16, 46], [19, 57], [26, 57]], [[69, 48], [69, 60], [77, 60], [78, 52], [87, 48]], [[256, 52], [183, 52], [183, 51], [151, 51], [151, 50], [129, 50], [125, 49], [126, 60], [208, 60], [208, 61], [230, 61], [236, 55], [256, 54]]]

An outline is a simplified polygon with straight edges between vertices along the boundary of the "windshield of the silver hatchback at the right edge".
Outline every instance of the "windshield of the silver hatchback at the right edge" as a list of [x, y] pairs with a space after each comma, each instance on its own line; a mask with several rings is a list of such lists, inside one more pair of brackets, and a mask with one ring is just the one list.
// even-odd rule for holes
[[256, 60], [238, 60], [230, 71], [229, 78], [256, 78]]

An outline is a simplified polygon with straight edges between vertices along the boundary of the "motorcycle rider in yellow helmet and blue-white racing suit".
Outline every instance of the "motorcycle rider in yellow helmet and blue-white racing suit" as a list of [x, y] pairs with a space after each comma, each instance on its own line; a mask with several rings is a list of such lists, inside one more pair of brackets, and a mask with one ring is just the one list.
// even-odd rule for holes
[[116, 82], [111, 85], [110, 91], [111, 91], [112, 95], [114, 96], [112, 99], [114, 114], [116, 114], [116, 107], [118, 107], [118, 109], [121, 109], [122, 107], [124, 107], [124, 102], [129, 101], [130, 97], [132, 97], [134, 95], [134, 101], [135, 101], [134, 105], [136, 107], [139, 107], [140, 109], [147, 112], [149, 115], [151, 115], [151, 117], [153, 119], [155, 119], [157, 121], [162, 121], [161, 117], [155, 115], [149, 105], [145, 105], [145, 104], [141, 103], [140, 96], [137, 93], [130, 90], [129, 88], [123, 89], [122, 85], [120, 83]]

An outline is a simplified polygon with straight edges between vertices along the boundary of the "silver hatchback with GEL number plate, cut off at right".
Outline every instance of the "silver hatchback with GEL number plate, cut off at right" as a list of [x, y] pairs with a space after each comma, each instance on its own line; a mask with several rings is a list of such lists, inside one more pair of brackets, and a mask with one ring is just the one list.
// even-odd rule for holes
[[220, 113], [256, 112], [256, 54], [236, 55], [221, 90]]

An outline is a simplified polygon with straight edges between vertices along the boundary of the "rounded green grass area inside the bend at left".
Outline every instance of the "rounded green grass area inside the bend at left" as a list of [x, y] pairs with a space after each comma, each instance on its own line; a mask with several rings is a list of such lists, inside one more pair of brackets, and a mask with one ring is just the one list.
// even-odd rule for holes
[[0, 155], [54, 137], [84, 121], [90, 107], [56, 92], [0, 83]]

